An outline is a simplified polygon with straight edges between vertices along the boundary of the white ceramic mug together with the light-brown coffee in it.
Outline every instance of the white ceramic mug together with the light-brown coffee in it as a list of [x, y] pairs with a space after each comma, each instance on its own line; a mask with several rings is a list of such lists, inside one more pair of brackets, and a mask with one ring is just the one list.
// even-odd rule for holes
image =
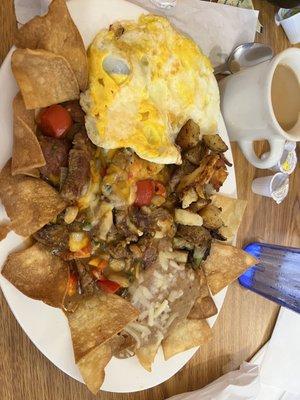
[[[231, 141], [237, 141], [257, 168], [271, 168], [281, 158], [286, 140], [300, 140], [300, 49], [290, 48], [219, 82], [221, 111]], [[268, 157], [253, 150], [255, 140], [268, 140]]]

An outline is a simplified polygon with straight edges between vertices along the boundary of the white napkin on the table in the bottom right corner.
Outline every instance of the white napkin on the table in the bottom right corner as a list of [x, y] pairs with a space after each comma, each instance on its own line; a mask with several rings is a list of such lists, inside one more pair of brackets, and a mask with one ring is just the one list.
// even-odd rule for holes
[[300, 315], [282, 308], [270, 341], [237, 371], [169, 400], [300, 400]]

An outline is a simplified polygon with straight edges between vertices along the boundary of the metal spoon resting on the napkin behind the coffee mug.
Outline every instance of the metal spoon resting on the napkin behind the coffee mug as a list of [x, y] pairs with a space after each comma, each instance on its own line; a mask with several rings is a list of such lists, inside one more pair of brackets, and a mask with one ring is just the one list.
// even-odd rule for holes
[[236, 47], [228, 57], [225, 64], [215, 68], [214, 74], [221, 74], [229, 71], [238, 72], [244, 68], [252, 67], [273, 57], [271, 47], [261, 43], [244, 43]]

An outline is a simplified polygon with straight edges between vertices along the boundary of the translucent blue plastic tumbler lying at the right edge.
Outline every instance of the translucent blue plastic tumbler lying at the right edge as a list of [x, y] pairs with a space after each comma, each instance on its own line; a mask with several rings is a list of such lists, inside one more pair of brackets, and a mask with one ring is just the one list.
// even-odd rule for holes
[[244, 250], [259, 263], [239, 277], [240, 284], [300, 313], [300, 249], [255, 242]]

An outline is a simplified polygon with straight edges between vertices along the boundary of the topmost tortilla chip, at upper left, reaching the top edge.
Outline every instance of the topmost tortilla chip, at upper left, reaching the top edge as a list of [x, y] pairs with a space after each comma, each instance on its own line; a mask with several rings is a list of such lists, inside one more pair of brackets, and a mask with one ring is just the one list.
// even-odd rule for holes
[[64, 0], [53, 0], [46, 15], [37, 16], [23, 25], [18, 31], [16, 46], [43, 49], [63, 56], [74, 71], [80, 89], [86, 89], [86, 51]]

